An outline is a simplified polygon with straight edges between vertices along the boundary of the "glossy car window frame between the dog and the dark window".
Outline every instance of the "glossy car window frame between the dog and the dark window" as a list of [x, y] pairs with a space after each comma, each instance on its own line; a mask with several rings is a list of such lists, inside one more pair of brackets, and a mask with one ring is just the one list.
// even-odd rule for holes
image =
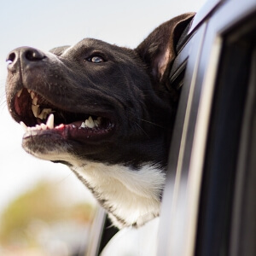
[[[232, 10], [232, 12], [230, 12]], [[190, 49], [182, 49], [177, 55], [173, 67], [181, 67], [183, 52], [189, 52], [187, 70], [184, 76], [182, 94], [177, 110], [177, 119], [173, 131], [173, 139], [170, 150], [170, 161], [166, 178], [166, 189], [163, 196], [160, 218], [160, 239], [158, 255], [194, 255], [195, 241], [198, 223], [198, 211], [200, 205], [201, 178], [204, 166], [204, 154], [207, 147], [207, 132], [209, 129], [209, 117], [212, 111], [212, 97], [218, 70], [218, 56], [220, 55], [224, 35], [230, 29], [236, 27], [255, 12], [255, 3], [247, 0], [240, 3], [237, 0], [219, 1], [212, 11], [201, 15], [202, 20], [197, 20], [189, 31]], [[195, 20], [197, 15], [195, 15]], [[205, 33], [201, 40], [202, 48], [199, 67], [193, 54], [198, 51], [196, 34], [205, 27]], [[193, 43], [192, 43], [193, 42]], [[185, 46], [185, 48], [187, 47]], [[188, 46], [189, 47], [189, 46]], [[189, 61], [194, 64], [189, 66]], [[196, 70], [197, 69], [197, 70]], [[175, 73], [176, 70], [172, 70]], [[189, 73], [195, 72], [194, 77]], [[189, 77], [189, 81], [187, 78]], [[184, 95], [188, 94], [195, 80], [195, 91], [191, 101], [192, 110], [188, 109], [189, 125], [184, 131], [183, 123], [186, 113]], [[193, 84], [192, 84], [193, 86]], [[197, 106], [199, 106], [197, 108]], [[181, 135], [181, 129], [183, 135]], [[189, 131], [189, 135], [187, 134]], [[183, 139], [183, 137], [185, 139]], [[183, 152], [183, 155], [180, 155]], [[181, 158], [178, 160], [178, 158]], [[178, 165], [177, 162], [180, 162]]]

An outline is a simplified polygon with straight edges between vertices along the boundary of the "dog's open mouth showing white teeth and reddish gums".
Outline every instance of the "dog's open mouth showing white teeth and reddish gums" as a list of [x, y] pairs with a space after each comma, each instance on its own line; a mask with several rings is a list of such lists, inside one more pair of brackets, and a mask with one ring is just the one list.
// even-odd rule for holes
[[108, 135], [114, 127], [106, 117], [57, 108], [37, 92], [25, 88], [16, 93], [14, 108], [26, 131], [25, 137], [56, 133], [66, 139], [88, 141]]

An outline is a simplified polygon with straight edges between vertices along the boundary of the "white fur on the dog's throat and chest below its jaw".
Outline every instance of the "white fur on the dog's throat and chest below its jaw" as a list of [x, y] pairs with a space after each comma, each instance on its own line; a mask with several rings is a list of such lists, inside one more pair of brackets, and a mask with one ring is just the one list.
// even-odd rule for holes
[[165, 173], [153, 165], [127, 166], [77, 162], [73, 172], [96, 196], [119, 228], [140, 226], [159, 215]]

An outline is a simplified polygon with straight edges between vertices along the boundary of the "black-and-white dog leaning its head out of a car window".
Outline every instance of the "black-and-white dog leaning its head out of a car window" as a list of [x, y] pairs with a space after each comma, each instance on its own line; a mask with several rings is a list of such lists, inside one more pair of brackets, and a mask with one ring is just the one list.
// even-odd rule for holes
[[168, 74], [195, 14], [166, 21], [136, 49], [85, 38], [8, 55], [9, 113], [22, 147], [62, 163], [122, 229], [159, 216], [178, 94]]

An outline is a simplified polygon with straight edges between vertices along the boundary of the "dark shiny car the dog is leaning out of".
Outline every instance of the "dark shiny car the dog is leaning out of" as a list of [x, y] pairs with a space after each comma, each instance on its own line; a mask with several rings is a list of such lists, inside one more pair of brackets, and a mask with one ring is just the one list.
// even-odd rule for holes
[[[180, 96], [154, 255], [256, 255], [256, 1], [207, 1], [170, 81]], [[87, 255], [116, 232], [99, 212]]]

